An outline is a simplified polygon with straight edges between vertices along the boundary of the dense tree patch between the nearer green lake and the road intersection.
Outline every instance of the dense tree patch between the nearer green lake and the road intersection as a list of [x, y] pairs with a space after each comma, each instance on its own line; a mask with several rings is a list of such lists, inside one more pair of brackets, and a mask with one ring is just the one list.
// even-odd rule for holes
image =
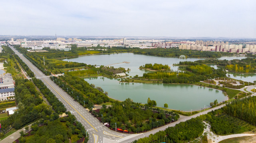
[[[149, 99], [149, 104], [151, 101], [154, 100]], [[93, 112], [93, 114], [101, 117], [102, 122], [108, 122], [111, 128], [115, 128], [116, 123], [117, 128], [134, 133], [163, 126], [170, 123], [172, 119], [175, 121], [179, 119], [179, 114], [164, 110], [153, 112], [152, 107], [140, 106], [140, 103], [135, 103], [131, 99], [123, 102], [114, 101], [111, 107], [103, 106], [98, 113]]]

